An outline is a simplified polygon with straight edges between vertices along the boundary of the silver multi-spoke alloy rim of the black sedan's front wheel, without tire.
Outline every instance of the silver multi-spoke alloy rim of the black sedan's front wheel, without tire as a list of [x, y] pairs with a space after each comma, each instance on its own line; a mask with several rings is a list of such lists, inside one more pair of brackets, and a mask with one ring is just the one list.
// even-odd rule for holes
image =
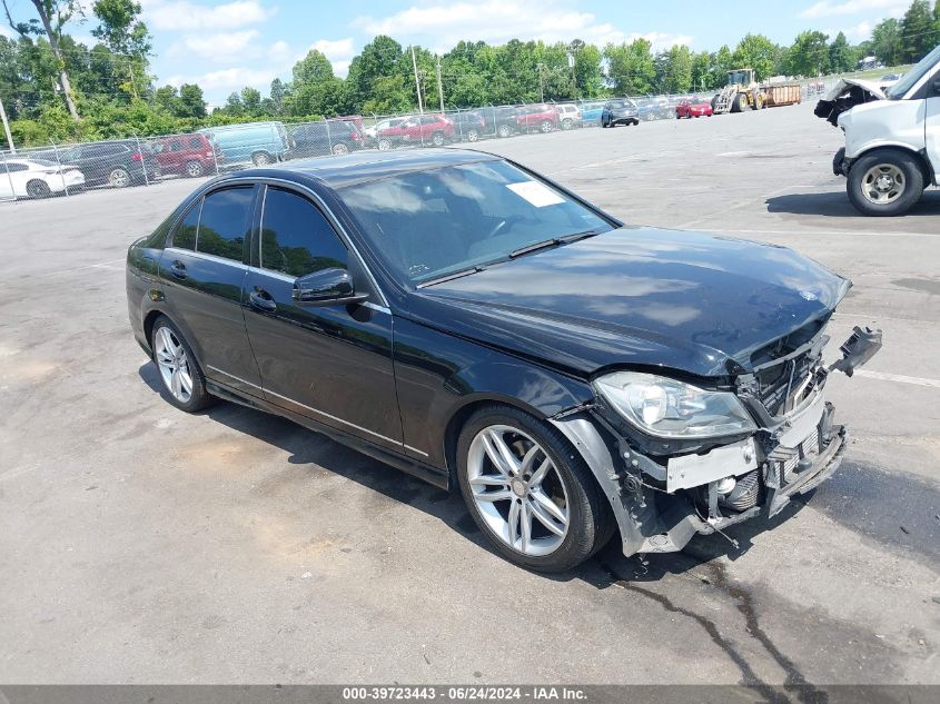
[[483, 522], [517, 553], [554, 553], [571, 519], [568, 492], [548, 454], [508, 425], [491, 425], [467, 452], [467, 482]]

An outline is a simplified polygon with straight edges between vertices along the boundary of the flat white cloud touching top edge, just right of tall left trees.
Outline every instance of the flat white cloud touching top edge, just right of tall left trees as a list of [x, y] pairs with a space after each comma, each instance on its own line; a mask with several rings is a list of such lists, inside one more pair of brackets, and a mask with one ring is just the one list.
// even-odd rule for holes
[[206, 7], [189, 0], [141, 0], [144, 20], [151, 29], [222, 30], [259, 24], [275, 13], [259, 0], [235, 0]]

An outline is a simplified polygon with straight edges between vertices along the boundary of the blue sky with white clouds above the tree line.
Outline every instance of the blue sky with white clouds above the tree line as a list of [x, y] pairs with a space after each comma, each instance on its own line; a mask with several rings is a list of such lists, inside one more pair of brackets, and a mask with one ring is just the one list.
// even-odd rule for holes
[[[604, 44], [645, 37], [654, 49], [675, 43], [696, 51], [734, 48], [748, 32], [792, 43], [803, 30], [850, 41], [867, 39], [885, 17], [901, 17], [910, 0], [139, 0], [154, 36], [152, 72], [158, 85], [197, 82], [211, 107], [244, 86], [267, 95], [275, 77], [311, 48], [346, 76], [352, 58], [375, 34], [403, 46], [444, 52], [458, 40], [503, 43], [508, 39], [583, 39]], [[81, 0], [90, 7], [91, 0]], [[12, 0], [14, 16], [29, 14], [29, 0]], [[91, 12], [71, 33], [85, 37]], [[10, 33], [9, 29], [0, 32]]]

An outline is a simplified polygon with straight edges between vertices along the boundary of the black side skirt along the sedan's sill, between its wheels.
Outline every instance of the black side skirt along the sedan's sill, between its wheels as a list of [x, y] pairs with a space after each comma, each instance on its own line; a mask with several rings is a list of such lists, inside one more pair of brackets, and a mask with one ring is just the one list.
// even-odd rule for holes
[[427, 482], [428, 484], [433, 484], [434, 486], [442, 488], [445, 492], [451, 490], [451, 475], [446, 469], [441, 469], [439, 467], [434, 467], [433, 465], [412, 459], [410, 457], [398, 455], [396, 453], [385, 449], [384, 447], [374, 445], [373, 443], [369, 443], [368, 440], [365, 440], [360, 437], [350, 435], [349, 433], [345, 433], [343, 430], [338, 430], [328, 425], [317, 423], [313, 418], [308, 418], [306, 416], [293, 413], [290, 410], [287, 410], [286, 408], [281, 408], [280, 406], [275, 406], [274, 404], [269, 404], [268, 401], [263, 400], [260, 398], [255, 398], [253, 396], [243, 396], [234, 389], [230, 389], [227, 386], [208, 378], [206, 379], [206, 388], [212, 396], [217, 396], [218, 398], [231, 401], [234, 404], [238, 404], [240, 406], [254, 408], [255, 410], [263, 410], [275, 416], [280, 416], [281, 418], [287, 418], [288, 420], [291, 420], [297, 425], [307, 428], [308, 430], [326, 435], [328, 438], [334, 439], [337, 443], [342, 443], [343, 445], [352, 447], [353, 449], [360, 452], [364, 455], [368, 455], [374, 459], [378, 459], [379, 462], [383, 462], [387, 465], [392, 465], [396, 469], [399, 469], [400, 472], [409, 474], [413, 477], [416, 477], [424, 482]]

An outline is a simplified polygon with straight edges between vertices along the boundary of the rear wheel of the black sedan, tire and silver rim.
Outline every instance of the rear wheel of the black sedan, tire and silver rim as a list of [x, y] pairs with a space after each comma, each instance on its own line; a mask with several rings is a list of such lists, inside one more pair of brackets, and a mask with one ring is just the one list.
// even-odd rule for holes
[[206, 390], [206, 377], [189, 343], [166, 316], [154, 323], [150, 349], [168, 401], [187, 413], [202, 410], [212, 404], [214, 399]]

